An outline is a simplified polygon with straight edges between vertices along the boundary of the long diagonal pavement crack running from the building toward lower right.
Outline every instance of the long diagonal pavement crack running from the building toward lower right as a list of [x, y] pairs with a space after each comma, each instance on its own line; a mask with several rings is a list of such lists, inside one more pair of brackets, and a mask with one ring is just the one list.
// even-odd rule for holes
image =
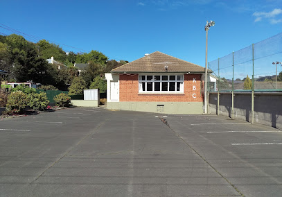
[[226, 182], [228, 182], [229, 185], [231, 185], [231, 187], [233, 187], [233, 189], [235, 189], [238, 194], [240, 194], [240, 196], [244, 196], [244, 194], [242, 192], [239, 191], [239, 189], [233, 185], [227, 178], [224, 177], [224, 175], [222, 175], [222, 173], [220, 173], [217, 169], [215, 169], [215, 167], [213, 165], [211, 165], [202, 155], [200, 155], [200, 153], [198, 153], [195, 148], [193, 148], [190, 144], [188, 144], [188, 142], [186, 142], [177, 132], [175, 132], [175, 130], [173, 130], [173, 128], [171, 128], [168, 124], [168, 121], [166, 121], [166, 119], [163, 119], [163, 118], [159, 118], [161, 119], [161, 121], [163, 123], [166, 124], [166, 126], [168, 126], [168, 128], [170, 128], [170, 130], [172, 130], [175, 135], [177, 137], [179, 137], [179, 139], [182, 140], [182, 142], [184, 142], [184, 144], [186, 144], [186, 146], [188, 146], [189, 148], [191, 148], [199, 157], [201, 157], [202, 160], [204, 160], [204, 162], [206, 162], [206, 164], [208, 164], [216, 173], [218, 173], [218, 175], [220, 175]]

